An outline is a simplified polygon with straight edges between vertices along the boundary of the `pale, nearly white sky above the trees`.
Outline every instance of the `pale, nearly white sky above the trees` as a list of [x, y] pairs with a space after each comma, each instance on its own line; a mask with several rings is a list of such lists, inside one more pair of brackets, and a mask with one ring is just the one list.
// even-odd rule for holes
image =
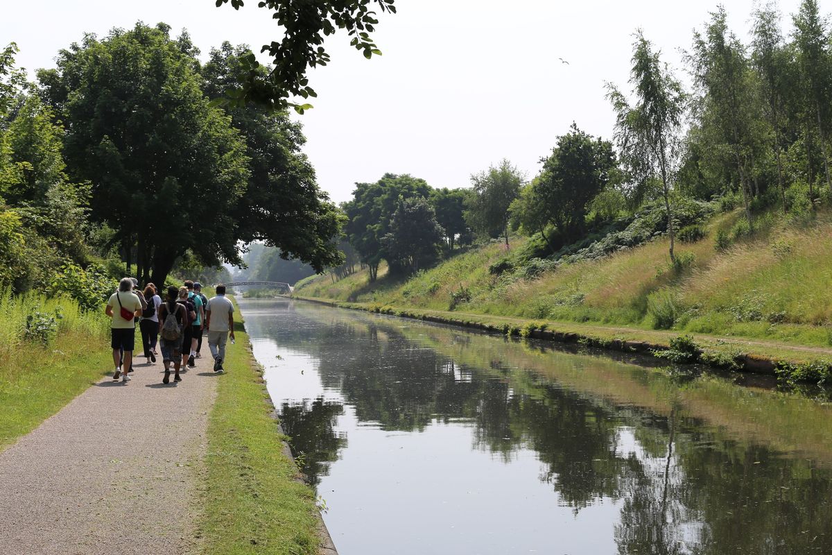
[[[83, 32], [164, 21], [186, 27], [206, 56], [228, 40], [255, 52], [280, 37], [270, 13], [248, 0], [235, 12], [214, 0], [41, 0], [4, 2], [0, 46], [17, 42], [18, 66], [54, 67]], [[531, 178], [568, 131], [610, 138], [605, 82], [627, 87], [632, 32], [644, 29], [686, 78], [681, 48], [718, 2], [668, 0], [397, 0], [374, 37], [382, 57], [366, 60], [345, 34], [329, 37], [332, 62], [310, 75], [319, 97], [298, 116], [320, 186], [349, 200], [356, 181], [409, 173], [432, 186], [469, 186], [472, 173], [508, 158]], [[745, 37], [753, 0], [722, 2]], [[798, 0], [781, 0], [785, 30]], [[829, 6], [820, 2], [822, 12]], [[562, 57], [569, 64], [560, 62]], [[261, 62], [268, 62], [260, 57]]]

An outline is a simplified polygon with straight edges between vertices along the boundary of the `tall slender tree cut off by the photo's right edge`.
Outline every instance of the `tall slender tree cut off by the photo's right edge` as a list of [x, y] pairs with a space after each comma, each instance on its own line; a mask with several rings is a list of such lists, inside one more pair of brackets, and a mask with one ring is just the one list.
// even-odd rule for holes
[[820, 138], [820, 152], [824, 161], [826, 186], [832, 191], [829, 156], [826, 151], [826, 118], [824, 108], [830, 102], [830, 36], [826, 22], [820, 17], [817, 0], [803, 0], [800, 11], [794, 17], [795, 44], [798, 51], [800, 72], [805, 83], [807, 112], [814, 115]]

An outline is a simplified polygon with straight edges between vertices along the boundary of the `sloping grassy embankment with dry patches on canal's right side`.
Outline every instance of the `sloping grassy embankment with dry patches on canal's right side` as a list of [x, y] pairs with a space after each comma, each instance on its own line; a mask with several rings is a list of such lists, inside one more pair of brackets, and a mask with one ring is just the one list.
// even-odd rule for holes
[[[602, 342], [667, 344], [679, 334], [694, 334], [697, 343], [728, 357], [751, 353], [795, 363], [832, 359], [832, 214], [820, 212], [803, 224], [764, 217], [754, 235], [716, 250], [718, 232], [730, 230], [738, 218], [738, 211], [718, 215], [701, 240], [677, 244], [677, 252], [693, 256], [681, 270], [669, 264], [664, 237], [532, 278], [490, 273], [489, 266], [507, 253], [500, 245], [487, 245], [409, 280], [379, 271], [382, 277], [370, 284], [361, 271], [334, 284], [328, 275], [305, 280], [295, 293], [498, 328], [547, 325]], [[522, 245], [523, 240], [515, 241], [513, 250]], [[460, 291], [468, 300], [451, 309], [451, 297]], [[657, 320], [668, 314], [670, 330], [655, 330]]]

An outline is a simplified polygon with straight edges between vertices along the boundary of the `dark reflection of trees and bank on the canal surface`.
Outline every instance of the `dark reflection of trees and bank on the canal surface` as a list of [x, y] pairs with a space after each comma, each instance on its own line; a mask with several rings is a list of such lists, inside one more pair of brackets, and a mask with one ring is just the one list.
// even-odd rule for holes
[[[280, 340], [314, 354], [324, 388], [337, 389], [361, 423], [419, 432], [461, 422], [474, 448], [506, 461], [532, 449], [541, 480], [575, 512], [619, 503], [619, 553], [832, 553], [832, 479], [812, 460], [735, 439], [672, 402], [656, 414], [503, 364], [518, 344], [397, 324], [339, 314]], [[557, 356], [549, 364], [572, 355]], [[669, 387], [650, 374], [640, 386]], [[323, 399], [280, 411], [310, 483], [346, 446], [336, 432], [342, 412]]]

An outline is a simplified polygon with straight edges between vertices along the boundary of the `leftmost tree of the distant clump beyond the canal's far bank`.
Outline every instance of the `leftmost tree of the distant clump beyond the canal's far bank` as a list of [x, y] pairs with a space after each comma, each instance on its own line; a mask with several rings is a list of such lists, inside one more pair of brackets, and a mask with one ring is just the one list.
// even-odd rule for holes
[[[384, 176], [375, 183], [356, 183], [353, 200], [344, 203], [349, 221], [344, 231], [369, 268], [369, 278], [376, 280], [379, 264], [388, 258], [382, 239], [389, 232], [390, 219], [399, 207], [399, 200], [412, 197], [428, 198], [431, 188], [427, 181], [409, 175]], [[388, 260], [391, 270], [398, 259]]]

